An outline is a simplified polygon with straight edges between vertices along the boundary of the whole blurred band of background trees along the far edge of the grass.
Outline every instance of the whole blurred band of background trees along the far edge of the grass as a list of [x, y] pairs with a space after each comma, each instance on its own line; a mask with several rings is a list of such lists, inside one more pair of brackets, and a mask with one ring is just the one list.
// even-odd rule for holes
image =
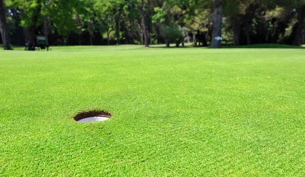
[[305, 0], [0, 0], [0, 43], [300, 45], [304, 18]]

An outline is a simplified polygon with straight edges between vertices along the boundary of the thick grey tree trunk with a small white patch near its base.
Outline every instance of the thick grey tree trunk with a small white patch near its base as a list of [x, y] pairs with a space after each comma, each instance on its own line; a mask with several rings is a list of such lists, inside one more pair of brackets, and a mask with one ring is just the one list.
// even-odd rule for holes
[[221, 40], [217, 40], [217, 37], [221, 37], [222, 31], [222, 17], [224, 11], [224, 0], [215, 0], [214, 11], [212, 14], [213, 27], [212, 27], [212, 43], [211, 48], [221, 48]]

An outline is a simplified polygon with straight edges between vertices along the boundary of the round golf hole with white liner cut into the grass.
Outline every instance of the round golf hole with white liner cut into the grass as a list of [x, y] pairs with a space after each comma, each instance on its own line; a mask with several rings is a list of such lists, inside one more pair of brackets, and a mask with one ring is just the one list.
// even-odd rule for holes
[[74, 120], [80, 123], [101, 122], [111, 118], [111, 114], [105, 111], [86, 111], [74, 116]]

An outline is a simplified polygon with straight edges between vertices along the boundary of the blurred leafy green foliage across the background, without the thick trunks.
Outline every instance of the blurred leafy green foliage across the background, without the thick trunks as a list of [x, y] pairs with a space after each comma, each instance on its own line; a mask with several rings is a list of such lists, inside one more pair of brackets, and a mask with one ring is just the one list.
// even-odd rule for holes
[[[171, 26], [172, 23], [177, 23], [189, 35], [197, 35], [197, 40], [200, 41], [200, 36], [205, 36], [204, 41], [210, 42], [213, 2], [209, 0], [5, 1], [7, 8], [11, 10], [11, 13], [7, 14], [7, 21], [10, 37], [15, 44], [27, 38], [22, 37], [27, 34], [22, 34], [23, 29], [20, 26], [34, 30], [36, 35], [40, 35], [43, 33], [45, 19], [49, 20], [50, 35], [56, 38], [51, 41], [68, 39], [71, 33], [77, 33], [76, 37], [79, 41], [80, 38], [88, 41], [88, 33], [90, 40], [94, 33], [98, 33], [101, 38], [105, 32], [110, 35], [115, 30], [115, 26], [119, 26], [120, 39], [132, 44], [143, 39], [140, 7], [142, 13], [146, 14], [145, 26], [148, 28], [146, 31], [149, 32], [151, 42], [164, 42], [160, 30], [162, 26], [163, 28]], [[231, 45], [234, 35], [236, 37], [238, 34], [240, 45], [247, 44], [249, 40], [251, 44], [290, 44], [296, 34], [296, 26], [299, 24], [297, 16], [303, 6], [305, 0], [225, 0], [223, 36], [226, 41], [223, 43]], [[115, 20], [118, 23], [115, 23]], [[302, 33], [305, 33], [304, 31], [303, 29]], [[167, 32], [166, 35], [176, 34]], [[302, 41], [305, 41], [303, 38]], [[103, 41], [98, 44], [103, 44]]]

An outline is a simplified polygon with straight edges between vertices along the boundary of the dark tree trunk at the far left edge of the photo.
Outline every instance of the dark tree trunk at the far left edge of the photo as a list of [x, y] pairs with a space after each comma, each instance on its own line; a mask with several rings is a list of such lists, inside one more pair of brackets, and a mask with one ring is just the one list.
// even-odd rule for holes
[[3, 0], [0, 0], [0, 28], [1, 28], [1, 37], [4, 50], [11, 50], [9, 42], [9, 30], [8, 24], [6, 21], [6, 9], [4, 7]]

